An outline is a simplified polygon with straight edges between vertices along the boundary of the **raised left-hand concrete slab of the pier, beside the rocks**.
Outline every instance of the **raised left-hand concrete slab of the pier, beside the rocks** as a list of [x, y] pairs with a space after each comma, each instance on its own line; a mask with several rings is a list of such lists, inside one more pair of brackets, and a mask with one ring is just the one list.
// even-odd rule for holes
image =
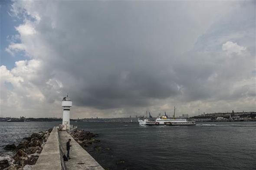
[[53, 127], [33, 170], [61, 170], [58, 129]]

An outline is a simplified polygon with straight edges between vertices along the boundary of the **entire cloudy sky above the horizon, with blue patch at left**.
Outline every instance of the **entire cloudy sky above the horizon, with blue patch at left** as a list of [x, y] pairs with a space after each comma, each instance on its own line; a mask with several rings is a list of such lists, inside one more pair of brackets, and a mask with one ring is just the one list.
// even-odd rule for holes
[[255, 1], [0, 2], [0, 117], [256, 111]]

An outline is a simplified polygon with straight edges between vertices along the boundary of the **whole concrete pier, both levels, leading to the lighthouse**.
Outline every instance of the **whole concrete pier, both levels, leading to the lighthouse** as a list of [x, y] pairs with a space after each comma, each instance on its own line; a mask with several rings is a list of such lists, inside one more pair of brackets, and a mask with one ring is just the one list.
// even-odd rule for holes
[[[63, 161], [62, 150], [67, 154], [66, 142], [71, 139], [69, 161]], [[62, 149], [60, 148], [60, 145]], [[33, 166], [33, 170], [104, 170], [100, 164], [84, 150], [66, 131], [53, 131], [48, 137], [43, 150]]]

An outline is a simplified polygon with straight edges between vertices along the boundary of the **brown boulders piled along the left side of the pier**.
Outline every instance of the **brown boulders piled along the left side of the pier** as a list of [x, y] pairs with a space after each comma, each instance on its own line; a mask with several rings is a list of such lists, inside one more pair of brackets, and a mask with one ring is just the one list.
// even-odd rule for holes
[[33, 133], [30, 137], [24, 137], [25, 141], [15, 144], [8, 144], [4, 147], [6, 150], [15, 152], [12, 159], [0, 160], [0, 170], [26, 170], [30, 165], [34, 165], [43, 150], [51, 131]]

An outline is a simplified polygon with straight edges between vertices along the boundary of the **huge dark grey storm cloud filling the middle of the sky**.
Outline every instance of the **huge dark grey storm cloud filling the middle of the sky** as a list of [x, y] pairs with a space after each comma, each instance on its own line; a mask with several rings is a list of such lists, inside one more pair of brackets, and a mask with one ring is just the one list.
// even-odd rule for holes
[[[220, 55], [221, 46], [228, 39], [217, 44], [212, 41], [218, 36], [228, 36], [230, 29], [240, 31], [241, 21], [233, 21], [231, 16], [220, 20], [197, 41], [195, 49], [182, 54], [190, 37], [184, 34], [190, 32], [186, 25], [193, 18], [176, 10], [180, 7], [177, 4], [68, 4], [59, 4], [59, 12], [51, 17], [51, 22], [48, 16], [43, 16], [36, 30], [42, 33], [40, 38], [48, 42], [47, 49], [53, 51], [43, 58], [49, 71], [55, 70], [54, 76], [64, 84], [62, 93], [72, 94], [77, 105], [138, 107], [150, 105], [152, 99], [178, 94], [182, 94], [185, 101], [195, 101], [214, 98], [218, 91], [229, 88], [222, 85], [226, 82], [222, 78], [234, 71], [223, 70], [225, 56]], [[246, 9], [242, 11], [246, 16], [249, 14]], [[181, 16], [177, 19], [174, 14]], [[244, 23], [251, 19], [240, 17]], [[213, 48], [214, 54], [204, 54], [203, 46], [198, 46], [198, 52], [200, 43]], [[207, 81], [215, 72], [219, 73], [217, 87]], [[51, 96], [48, 91], [44, 93]]]

